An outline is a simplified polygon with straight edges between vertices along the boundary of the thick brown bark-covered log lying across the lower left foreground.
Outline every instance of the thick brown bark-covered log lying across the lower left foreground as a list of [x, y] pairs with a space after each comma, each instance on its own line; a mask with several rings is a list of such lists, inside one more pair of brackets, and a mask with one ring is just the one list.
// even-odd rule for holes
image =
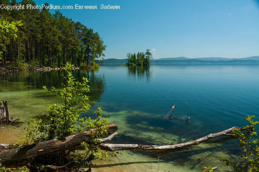
[[[107, 130], [108, 134], [111, 134], [117, 131], [118, 127], [116, 123], [109, 124]], [[2, 163], [2, 165], [6, 165], [42, 154], [47, 154], [60, 150], [68, 150], [68, 148], [79, 145], [81, 142], [90, 141], [92, 139], [92, 137], [90, 136], [91, 132], [94, 132], [94, 129], [92, 129], [91, 131], [80, 132], [75, 135], [67, 136], [61, 139], [52, 139], [49, 141], [0, 152], [0, 163]]]

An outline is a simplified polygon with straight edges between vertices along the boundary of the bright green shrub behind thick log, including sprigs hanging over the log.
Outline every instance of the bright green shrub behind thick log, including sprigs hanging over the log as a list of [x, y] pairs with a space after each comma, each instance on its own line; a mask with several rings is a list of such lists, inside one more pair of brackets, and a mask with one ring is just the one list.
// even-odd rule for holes
[[[28, 126], [24, 128], [25, 136], [18, 143], [39, 143], [94, 129], [90, 134], [92, 140], [81, 144], [85, 148], [85, 152], [81, 155], [85, 157], [93, 155], [100, 160], [106, 159], [108, 155], [113, 155], [114, 153], [99, 152], [100, 149], [97, 148], [96, 144], [100, 143], [100, 140], [97, 138], [107, 134], [106, 124], [108, 119], [102, 118], [102, 110], [100, 108], [95, 112], [97, 119], [93, 122], [91, 122], [90, 117], [80, 117], [80, 114], [86, 112], [90, 107], [87, 103], [88, 97], [86, 96], [86, 93], [89, 92], [89, 85], [87, 84], [87, 78], [83, 78], [81, 83], [75, 81], [71, 72], [72, 67], [73, 65], [69, 63], [66, 63], [63, 67], [65, 70], [65, 83], [62, 90], [56, 90], [54, 87], [47, 89], [46, 86], [43, 86], [45, 90], [59, 95], [62, 98], [62, 104], [54, 103], [54, 105], [49, 105], [49, 115], [47, 115], [45, 120], [39, 119], [36, 121], [35, 119], [30, 119]], [[54, 156], [60, 156], [56, 163], [64, 163], [61, 159], [61, 156], [64, 158], [64, 154], [66, 154], [64, 151], [56, 155], [54, 154]]]

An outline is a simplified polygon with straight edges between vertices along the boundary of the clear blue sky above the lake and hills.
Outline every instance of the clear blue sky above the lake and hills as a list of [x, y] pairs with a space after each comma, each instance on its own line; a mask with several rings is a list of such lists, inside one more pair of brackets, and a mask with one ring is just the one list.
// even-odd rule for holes
[[[105, 59], [125, 59], [129, 52], [146, 49], [155, 59], [259, 55], [259, 0], [35, 1], [45, 2], [96, 5], [97, 9], [60, 11], [102, 36]], [[120, 9], [100, 9], [101, 4]]]

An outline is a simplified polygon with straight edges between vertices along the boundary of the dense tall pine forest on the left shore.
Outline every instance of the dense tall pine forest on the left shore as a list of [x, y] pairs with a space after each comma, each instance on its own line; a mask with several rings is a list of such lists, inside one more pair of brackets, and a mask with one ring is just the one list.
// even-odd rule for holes
[[[36, 5], [23, 0], [21, 5]], [[15, 0], [2, 0], [3, 5], [19, 5]], [[45, 3], [48, 5], [48, 3]], [[49, 9], [1, 9], [0, 15], [7, 21], [20, 21], [17, 38], [1, 37], [1, 67], [9, 65], [17, 69], [30, 66], [62, 67], [66, 62], [80, 67], [98, 67], [94, 59], [104, 56], [106, 45], [97, 32], [80, 22], [54, 14]]]

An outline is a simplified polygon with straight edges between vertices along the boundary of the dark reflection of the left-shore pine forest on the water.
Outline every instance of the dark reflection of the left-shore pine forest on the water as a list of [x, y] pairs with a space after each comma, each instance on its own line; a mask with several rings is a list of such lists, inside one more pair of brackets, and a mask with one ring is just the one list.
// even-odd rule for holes
[[[82, 78], [86, 77], [89, 80], [90, 92], [87, 94], [90, 101], [100, 101], [101, 95], [105, 89], [105, 76], [95, 75], [98, 69], [82, 69], [72, 70], [73, 76], [82, 82]], [[43, 90], [42, 87], [46, 86], [51, 88], [54, 86], [56, 89], [62, 88], [64, 80], [64, 71], [51, 70], [51, 71], [14, 71], [14, 72], [1, 72], [0, 73], [0, 92], [22, 92], [22, 91], [37, 91]], [[49, 98], [56, 96], [48, 94], [37, 94], [35, 96], [42, 98]]]

